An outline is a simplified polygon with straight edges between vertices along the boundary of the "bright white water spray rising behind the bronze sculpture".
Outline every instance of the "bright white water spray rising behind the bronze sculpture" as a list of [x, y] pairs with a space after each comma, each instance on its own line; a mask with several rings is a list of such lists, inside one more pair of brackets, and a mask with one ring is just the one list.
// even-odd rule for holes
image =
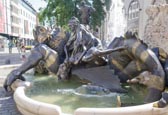
[[125, 32], [126, 19], [124, 16], [124, 4], [122, 0], [113, 0], [112, 6], [109, 12], [109, 21], [107, 35], [108, 40], [112, 40], [114, 37], [121, 36]]

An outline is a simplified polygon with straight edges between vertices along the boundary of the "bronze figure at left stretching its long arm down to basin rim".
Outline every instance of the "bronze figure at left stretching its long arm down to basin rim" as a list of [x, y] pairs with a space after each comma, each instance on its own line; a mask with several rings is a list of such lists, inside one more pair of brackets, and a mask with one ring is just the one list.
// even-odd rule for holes
[[22, 74], [36, 67], [40, 61], [44, 61], [46, 68], [56, 74], [59, 64], [65, 59], [63, 47], [69, 38], [69, 33], [58, 29], [50, 34], [43, 26], [36, 26], [33, 35], [36, 45], [29, 57], [20, 67], [13, 70], [5, 80], [4, 88], [8, 91], [11, 90], [10, 86], [16, 79], [25, 80]]

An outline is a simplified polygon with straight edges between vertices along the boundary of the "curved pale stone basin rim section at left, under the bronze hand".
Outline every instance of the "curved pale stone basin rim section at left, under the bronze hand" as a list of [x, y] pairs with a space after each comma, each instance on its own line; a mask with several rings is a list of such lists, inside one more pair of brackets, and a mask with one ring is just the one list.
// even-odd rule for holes
[[14, 100], [18, 110], [24, 115], [62, 115], [57, 105], [38, 102], [25, 95], [26, 87], [20, 86], [15, 90]]

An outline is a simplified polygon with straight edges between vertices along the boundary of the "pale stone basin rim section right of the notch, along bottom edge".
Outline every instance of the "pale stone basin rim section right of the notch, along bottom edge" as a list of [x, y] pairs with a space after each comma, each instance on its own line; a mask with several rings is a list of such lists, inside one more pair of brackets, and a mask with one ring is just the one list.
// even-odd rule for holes
[[154, 108], [153, 103], [119, 108], [79, 108], [74, 115], [168, 115], [168, 107]]

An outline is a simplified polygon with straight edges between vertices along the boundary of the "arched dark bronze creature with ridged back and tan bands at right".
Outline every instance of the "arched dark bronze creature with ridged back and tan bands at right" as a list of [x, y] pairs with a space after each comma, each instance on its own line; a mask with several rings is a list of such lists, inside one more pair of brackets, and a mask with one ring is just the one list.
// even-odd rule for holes
[[[144, 84], [149, 88], [145, 101], [153, 102], [159, 100], [165, 88], [165, 72], [159, 57], [132, 32], [127, 32], [124, 37], [115, 38], [108, 46], [108, 49], [115, 49], [121, 46], [124, 49], [118, 49], [118, 51], [110, 54], [109, 52], [106, 53], [111, 69], [115, 70], [115, 74], [118, 75], [123, 83], [135, 78], [144, 71], [151, 72], [151, 75], [148, 76], [150, 82]], [[100, 55], [98, 53], [96, 56]], [[85, 60], [87, 60], [87, 57], [89, 59], [94, 56], [88, 54], [88, 56], [85, 56]]]

